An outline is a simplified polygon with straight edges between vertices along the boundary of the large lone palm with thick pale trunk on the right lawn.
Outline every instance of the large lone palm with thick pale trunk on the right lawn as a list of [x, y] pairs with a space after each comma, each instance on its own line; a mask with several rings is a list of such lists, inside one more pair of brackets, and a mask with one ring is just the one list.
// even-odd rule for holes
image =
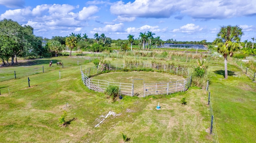
[[238, 25], [236, 26], [222, 26], [220, 27], [220, 31], [217, 34], [217, 38], [214, 40], [214, 44], [216, 44], [217, 51], [223, 54], [224, 64], [225, 64], [225, 79], [228, 79], [228, 65], [227, 58], [228, 55], [232, 57], [235, 51], [239, 50], [240, 39], [243, 35], [242, 28]]

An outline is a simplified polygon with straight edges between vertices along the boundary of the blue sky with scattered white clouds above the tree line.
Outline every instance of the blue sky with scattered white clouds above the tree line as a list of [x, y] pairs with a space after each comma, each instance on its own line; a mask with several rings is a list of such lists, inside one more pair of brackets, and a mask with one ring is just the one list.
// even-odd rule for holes
[[152, 31], [164, 41], [212, 42], [223, 25], [242, 27], [242, 41], [256, 38], [256, 0], [0, 0], [4, 18], [49, 39], [96, 32], [128, 39]]

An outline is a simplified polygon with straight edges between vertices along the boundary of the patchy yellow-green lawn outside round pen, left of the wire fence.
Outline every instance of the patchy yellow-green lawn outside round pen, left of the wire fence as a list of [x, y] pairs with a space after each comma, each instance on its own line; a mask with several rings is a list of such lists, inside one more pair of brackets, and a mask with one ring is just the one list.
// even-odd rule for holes
[[[53, 67], [48, 67], [51, 60]], [[56, 61], [63, 62], [64, 68]], [[119, 143], [122, 133], [131, 143], [212, 142], [205, 90], [190, 88], [146, 98], [124, 96], [112, 102], [82, 84], [80, 66], [94, 66], [85, 58], [30, 62], [35, 64], [0, 68], [0, 142]], [[182, 97], [187, 105], [181, 104]], [[161, 110], [156, 110], [158, 102]], [[58, 124], [64, 110], [70, 123], [67, 127]], [[108, 113], [111, 115], [104, 118]]]

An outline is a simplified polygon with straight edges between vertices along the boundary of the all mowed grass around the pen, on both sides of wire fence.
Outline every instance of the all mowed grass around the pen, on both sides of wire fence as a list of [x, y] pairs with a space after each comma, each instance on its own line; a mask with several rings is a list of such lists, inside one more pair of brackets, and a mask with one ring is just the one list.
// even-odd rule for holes
[[[106, 59], [124, 62], [123, 58]], [[48, 66], [51, 60], [53, 67]], [[57, 61], [64, 63], [63, 69], [55, 64]], [[212, 61], [208, 71], [219, 140], [253, 142], [256, 84], [232, 65], [228, 65], [228, 70], [234, 74], [224, 80], [221, 61]], [[74, 56], [0, 67], [0, 142], [121, 143], [122, 133], [130, 138], [130, 143], [212, 142], [205, 90], [191, 87], [168, 96], [124, 96], [112, 102], [103, 93], [88, 90], [82, 84], [80, 66], [85, 69], [94, 64]], [[187, 105], [181, 104], [182, 97], [186, 97]], [[156, 110], [158, 102], [161, 110]], [[64, 110], [66, 121], [70, 121], [67, 127], [58, 124]], [[104, 118], [110, 111], [112, 115]]]

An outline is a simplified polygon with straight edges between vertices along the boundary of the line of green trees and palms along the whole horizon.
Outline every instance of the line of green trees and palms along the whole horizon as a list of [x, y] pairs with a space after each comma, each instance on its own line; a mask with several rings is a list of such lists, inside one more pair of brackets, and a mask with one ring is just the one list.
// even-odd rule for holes
[[[222, 28], [223, 27], [221, 27], [220, 31], [222, 31]], [[5, 65], [6, 63], [9, 64], [8, 60], [10, 58], [11, 64], [14, 64], [14, 61], [17, 63], [17, 57], [26, 58], [28, 56], [58, 56], [61, 55], [61, 52], [65, 49], [70, 50], [69, 55], [71, 56], [73, 50], [111, 52], [114, 47], [117, 47], [122, 51], [126, 51], [129, 49], [133, 50], [133, 45], [136, 45], [140, 49], [156, 48], [160, 45], [163, 45], [164, 43], [218, 45], [218, 43], [221, 42], [220, 39], [225, 39], [228, 37], [227, 35], [226, 37], [221, 37], [218, 33], [218, 38], [215, 39], [213, 43], [206, 42], [206, 40], [176, 41], [176, 39], [168, 39], [163, 41], [159, 36], [154, 37], [153, 35], [156, 35], [155, 33], [152, 33], [151, 31], [147, 31], [146, 33], [145, 31], [144, 33], [141, 32], [138, 38], [134, 38], [134, 35], [129, 34], [127, 39], [117, 40], [106, 37], [104, 33], [95, 33], [93, 38], [89, 38], [86, 33], [83, 35], [81, 35], [81, 33], [71, 33], [66, 37], [52, 36], [51, 39], [43, 39], [42, 37], [34, 35], [33, 31], [34, 29], [30, 25], [22, 26], [18, 24], [18, 22], [14, 22], [10, 19], [4, 19], [0, 21], [0, 58], [2, 59], [2, 65]], [[240, 42], [240, 38], [229, 40], [233, 43], [238, 43], [239, 49], [242, 49], [244, 53], [248, 55], [256, 55], [256, 48], [254, 48], [254, 38], [252, 38], [252, 42], [248, 40]], [[223, 41], [224, 40], [222, 39], [222, 43]]]

